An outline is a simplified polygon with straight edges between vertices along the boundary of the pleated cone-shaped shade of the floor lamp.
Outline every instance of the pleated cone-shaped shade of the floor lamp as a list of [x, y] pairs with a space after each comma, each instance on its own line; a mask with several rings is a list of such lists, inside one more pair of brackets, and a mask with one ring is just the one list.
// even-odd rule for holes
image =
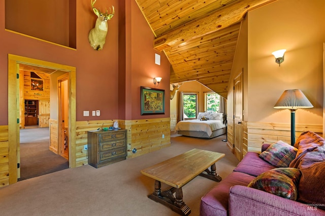
[[274, 105], [276, 109], [297, 110], [300, 108], [312, 108], [313, 105], [299, 89], [285, 90]]

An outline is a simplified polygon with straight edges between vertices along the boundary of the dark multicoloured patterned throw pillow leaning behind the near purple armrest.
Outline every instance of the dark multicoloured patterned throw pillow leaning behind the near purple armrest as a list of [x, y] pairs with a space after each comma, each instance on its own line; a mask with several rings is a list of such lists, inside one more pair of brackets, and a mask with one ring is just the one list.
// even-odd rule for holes
[[301, 172], [297, 168], [275, 168], [253, 179], [248, 187], [286, 199], [297, 200]]

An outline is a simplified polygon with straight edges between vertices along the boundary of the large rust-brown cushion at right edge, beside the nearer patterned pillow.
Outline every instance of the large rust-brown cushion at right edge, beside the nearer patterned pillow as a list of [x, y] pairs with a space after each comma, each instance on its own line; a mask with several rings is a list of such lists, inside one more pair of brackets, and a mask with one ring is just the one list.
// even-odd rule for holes
[[308, 152], [299, 164], [301, 180], [299, 201], [325, 209], [325, 147], [320, 146]]

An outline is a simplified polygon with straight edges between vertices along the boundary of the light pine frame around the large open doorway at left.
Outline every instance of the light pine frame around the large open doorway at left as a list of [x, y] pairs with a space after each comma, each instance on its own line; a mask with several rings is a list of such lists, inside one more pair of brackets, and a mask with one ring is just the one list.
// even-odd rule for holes
[[[76, 68], [22, 56], [8, 54], [8, 145], [9, 184], [18, 181], [19, 163], [19, 64], [36, 65], [69, 72], [69, 167], [76, 167]], [[18, 75], [17, 75], [18, 74]]]

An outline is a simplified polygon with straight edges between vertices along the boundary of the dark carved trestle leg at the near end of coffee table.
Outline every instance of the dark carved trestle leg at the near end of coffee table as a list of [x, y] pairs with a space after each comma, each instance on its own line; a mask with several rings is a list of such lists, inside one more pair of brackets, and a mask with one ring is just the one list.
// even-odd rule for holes
[[[175, 193], [175, 197], [174, 194]], [[183, 201], [182, 188], [171, 188], [167, 191], [161, 191], [161, 183], [157, 180], [154, 182], [154, 192], [148, 196], [150, 199], [170, 207], [173, 211], [188, 215], [191, 209]]]

